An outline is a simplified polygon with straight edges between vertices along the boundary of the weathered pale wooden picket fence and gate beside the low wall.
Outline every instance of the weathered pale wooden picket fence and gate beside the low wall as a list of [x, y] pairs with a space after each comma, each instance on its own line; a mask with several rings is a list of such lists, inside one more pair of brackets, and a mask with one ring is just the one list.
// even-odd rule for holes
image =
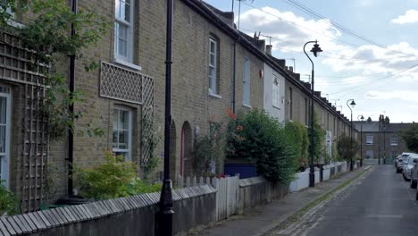
[[216, 221], [227, 219], [230, 215], [238, 214], [239, 200], [239, 176], [228, 176], [225, 178], [216, 177], [187, 177], [179, 176], [178, 188], [191, 187], [196, 185], [212, 185], [216, 192]]

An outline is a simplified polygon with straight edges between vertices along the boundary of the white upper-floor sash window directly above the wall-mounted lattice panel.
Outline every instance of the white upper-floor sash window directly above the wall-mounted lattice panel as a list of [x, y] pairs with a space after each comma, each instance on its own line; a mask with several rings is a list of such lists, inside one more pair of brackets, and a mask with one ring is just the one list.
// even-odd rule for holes
[[134, 0], [115, 0], [114, 57], [133, 62]]

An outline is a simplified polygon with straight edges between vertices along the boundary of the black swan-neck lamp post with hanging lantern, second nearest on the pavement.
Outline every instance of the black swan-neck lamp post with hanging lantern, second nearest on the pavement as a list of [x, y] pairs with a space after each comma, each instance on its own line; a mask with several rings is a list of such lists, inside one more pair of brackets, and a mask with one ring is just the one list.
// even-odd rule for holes
[[311, 76], [311, 153], [310, 153], [310, 162], [309, 162], [309, 187], [315, 186], [315, 170], [314, 170], [314, 62], [311, 57], [306, 54], [305, 47], [308, 44], [314, 44], [311, 52], [314, 53], [314, 56], [317, 57], [319, 53], [322, 52], [321, 47], [318, 45], [318, 40], [309, 41], [305, 43], [304, 52], [309, 61], [312, 63], [312, 76]]

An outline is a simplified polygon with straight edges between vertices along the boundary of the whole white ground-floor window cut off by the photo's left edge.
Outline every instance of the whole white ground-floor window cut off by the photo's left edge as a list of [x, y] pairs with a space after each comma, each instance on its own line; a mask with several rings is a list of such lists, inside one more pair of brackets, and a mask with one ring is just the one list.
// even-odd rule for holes
[[0, 179], [9, 187], [10, 89], [0, 85]]

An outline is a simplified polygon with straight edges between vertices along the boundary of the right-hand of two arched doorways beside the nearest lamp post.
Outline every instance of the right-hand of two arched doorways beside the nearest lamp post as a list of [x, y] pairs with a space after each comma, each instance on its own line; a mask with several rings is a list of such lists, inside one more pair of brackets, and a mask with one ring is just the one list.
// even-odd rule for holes
[[181, 128], [180, 142], [180, 175], [191, 176], [193, 174], [192, 155], [192, 130], [188, 122], [183, 123]]

